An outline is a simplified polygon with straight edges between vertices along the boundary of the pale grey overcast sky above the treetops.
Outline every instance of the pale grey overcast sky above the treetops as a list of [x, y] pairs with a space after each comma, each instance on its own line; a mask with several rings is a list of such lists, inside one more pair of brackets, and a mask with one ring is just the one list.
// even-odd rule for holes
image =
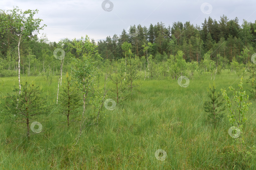
[[[103, 3], [103, 4], [102, 4]], [[105, 4], [105, 5], [104, 5]], [[0, 9], [38, 9], [36, 18], [47, 27], [40, 31], [50, 41], [80, 38], [88, 35], [95, 41], [121, 34], [130, 25], [149, 27], [163, 22], [190, 21], [200, 25], [209, 16], [217, 21], [223, 14], [229, 19], [238, 17], [256, 20], [255, 0], [1, 0]], [[40, 35], [39, 35], [40, 36]]]

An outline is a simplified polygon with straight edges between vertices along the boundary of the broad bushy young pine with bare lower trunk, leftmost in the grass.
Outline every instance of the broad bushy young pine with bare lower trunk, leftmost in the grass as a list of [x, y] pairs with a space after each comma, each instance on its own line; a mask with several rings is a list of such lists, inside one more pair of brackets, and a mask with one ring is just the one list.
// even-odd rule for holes
[[[42, 97], [42, 89], [34, 82], [28, 83], [27, 80], [21, 83], [21, 94], [19, 88], [14, 86], [14, 94], [7, 93], [6, 108], [16, 117], [15, 122], [26, 123], [27, 138], [30, 139], [29, 123], [32, 117], [45, 113], [45, 99]], [[18, 103], [17, 103], [17, 99]], [[17, 108], [17, 109], [16, 109]]]

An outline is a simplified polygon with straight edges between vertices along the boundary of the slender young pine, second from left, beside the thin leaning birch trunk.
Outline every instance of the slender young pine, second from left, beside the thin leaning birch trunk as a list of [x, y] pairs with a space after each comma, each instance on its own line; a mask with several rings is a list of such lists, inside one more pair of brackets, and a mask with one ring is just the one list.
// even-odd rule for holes
[[61, 91], [59, 96], [59, 113], [67, 116], [67, 126], [69, 127], [70, 122], [75, 120], [75, 118], [70, 120], [70, 116], [77, 112], [81, 97], [76, 84], [71, 84], [68, 72], [66, 74], [66, 81], [64, 82], [63, 91]]

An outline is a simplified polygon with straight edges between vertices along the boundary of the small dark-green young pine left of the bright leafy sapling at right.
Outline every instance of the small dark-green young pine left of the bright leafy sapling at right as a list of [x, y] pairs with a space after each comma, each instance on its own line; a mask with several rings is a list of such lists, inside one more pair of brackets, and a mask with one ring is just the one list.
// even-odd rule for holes
[[204, 111], [210, 113], [208, 116], [214, 120], [220, 119], [223, 117], [222, 111], [225, 110], [223, 107], [224, 99], [221, 98], [221, 93], [216, 93], [216, 86], [213, 82], [213, 85], [208, 89], [209, 101], [204, 102]]

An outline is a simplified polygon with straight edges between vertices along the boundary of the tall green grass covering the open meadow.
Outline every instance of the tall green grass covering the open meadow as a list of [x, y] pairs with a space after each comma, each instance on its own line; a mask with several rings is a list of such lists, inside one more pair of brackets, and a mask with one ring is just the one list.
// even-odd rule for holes
[[[49, 105], [56, 103], [57, 76], [51, 86], [42, 76], [27, 79], [40, 82], [43, 93], [51, 94]], [[217, 90], [226, 88], [231, 97], [228, 87], [238, 89], [240, 78], [226, 70], [215, 81]], [[13, 82], [18, 78], [0, 78], [1, 100]], [[234, 138], [228, 134], [228, 110], [216, 127], [208, 121], [203, 103], [212, 82], [210, 75], [194, 76], [187, 88], [177, 80], [142, 80], [133, 97], [107, 110], [98, 126], [86, 128], [76, 146], [77, 123], [67, 128], [65, 117], [54, 107], [38, 117], [43, 130], [29, 141], [25, 124], [10, 121], [0, 108], [0, 169], [256, 169], [254, 154], [246, 162], [240, 161], [240, 153], [229, 154]], [[245, 150], [256, 145], [256, 101], [249, 101], [253, 104], [243, 128]], [[164, 161], [155, 158], [158, 149], [166, 152]]]

